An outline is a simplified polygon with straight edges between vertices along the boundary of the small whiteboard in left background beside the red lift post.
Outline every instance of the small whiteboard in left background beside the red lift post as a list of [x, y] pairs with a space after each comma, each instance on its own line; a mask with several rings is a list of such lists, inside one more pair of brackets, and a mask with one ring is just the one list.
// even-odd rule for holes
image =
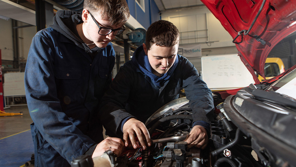
[[5, 73], [3, 93], [4, 96], [22, 96], [25, 95], [25, 73]]

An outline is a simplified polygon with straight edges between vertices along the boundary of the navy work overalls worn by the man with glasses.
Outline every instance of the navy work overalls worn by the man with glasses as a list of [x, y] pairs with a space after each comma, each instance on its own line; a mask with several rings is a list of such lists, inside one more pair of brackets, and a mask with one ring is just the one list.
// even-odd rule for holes
[[43, 157], [44, 166], [57, 166], [59, 162], [52, 161], [59, 161], [54, 150], [70, 163], [103, 140], [96, 116], [112, 81], [115, 51], [108, 44], [96, 52], [92, 60], [85, 49], [52, 28], [33, 37], [25, 92], [33, 120], [35, 164], [36, 152]]

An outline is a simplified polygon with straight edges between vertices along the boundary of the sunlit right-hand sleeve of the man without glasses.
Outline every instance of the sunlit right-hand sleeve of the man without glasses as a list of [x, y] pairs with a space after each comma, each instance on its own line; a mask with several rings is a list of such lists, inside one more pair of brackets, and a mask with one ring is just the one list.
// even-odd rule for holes
[[183, 88], [186, 98], [189, 100], [189, 106], [192, 108], [193, 122], [204, 121], [209, 123], [213, 120], [214, 102], [212, 91], [207, 87], [201, 75], [188, 59], [183, 59], [181, 68]]

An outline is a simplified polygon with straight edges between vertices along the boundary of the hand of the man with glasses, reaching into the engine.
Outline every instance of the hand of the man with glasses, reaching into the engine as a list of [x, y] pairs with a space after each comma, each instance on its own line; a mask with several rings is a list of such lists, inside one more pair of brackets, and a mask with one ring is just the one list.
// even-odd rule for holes
[[110, 147], [115, 155], [120, 155], [124, 144], [120, 138], [107, 137], [96, 146], [92, 158], [101, 156], [105, 151], [109, 150]]

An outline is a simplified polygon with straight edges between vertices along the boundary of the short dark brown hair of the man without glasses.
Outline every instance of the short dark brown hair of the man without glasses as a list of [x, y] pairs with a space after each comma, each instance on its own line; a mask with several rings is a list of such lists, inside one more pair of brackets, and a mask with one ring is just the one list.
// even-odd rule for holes
[[147, 51], [153, 44], [165, 47], [179, 44], [179, 30], [169, 21], [159, 20], [152, 23], [146, 32]]

